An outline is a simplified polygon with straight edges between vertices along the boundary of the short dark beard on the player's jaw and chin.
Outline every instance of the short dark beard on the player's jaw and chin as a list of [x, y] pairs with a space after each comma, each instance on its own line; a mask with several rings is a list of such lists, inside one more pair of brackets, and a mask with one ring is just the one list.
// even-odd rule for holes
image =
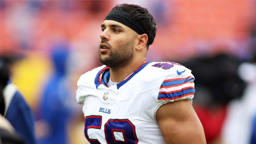
[[129, 63], [129, 60], [133, 58], [134, 40], [128, 41], [116, 48], [113, 48], [108, 42], [101, 41], [105, 43], [110, 50], [109, 56], [102, 58], [101, 55], [105, 53], [100, 53], [100, 62], [108, 67], [116, 67], [125, 62]]

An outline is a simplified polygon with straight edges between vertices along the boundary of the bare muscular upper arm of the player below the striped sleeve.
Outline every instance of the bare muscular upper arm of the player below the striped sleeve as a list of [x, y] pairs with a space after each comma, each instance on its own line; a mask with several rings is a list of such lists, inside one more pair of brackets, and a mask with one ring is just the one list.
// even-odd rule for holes
[[162, 105], [156, 119], [167, 144], [206, 144], [202, 124], [191, 100]]

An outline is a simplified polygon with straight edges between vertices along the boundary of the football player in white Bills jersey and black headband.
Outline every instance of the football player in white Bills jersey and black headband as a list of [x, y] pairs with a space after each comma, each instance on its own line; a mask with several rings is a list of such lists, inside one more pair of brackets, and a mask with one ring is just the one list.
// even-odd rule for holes
[[115, 6], [101, 25], [100, 61], [78, 80], [90, 143], [205, 144], [193, 106], [194, 76], [174, 62], [149, 62], [156, 21], [139, 5]]

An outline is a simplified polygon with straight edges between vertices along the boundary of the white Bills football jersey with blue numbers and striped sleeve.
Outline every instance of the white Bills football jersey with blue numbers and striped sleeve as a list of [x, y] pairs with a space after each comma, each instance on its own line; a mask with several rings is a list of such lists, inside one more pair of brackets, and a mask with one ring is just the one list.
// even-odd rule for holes
[[174, 62], [145, 62], [124, 81], [108, 87], [103, 65], [78, 80], [77, 103], [83, 104], [84, 133], [91, 144], [164, 143], [156, 112], [168, 102], [192, 99], [191, 70]]

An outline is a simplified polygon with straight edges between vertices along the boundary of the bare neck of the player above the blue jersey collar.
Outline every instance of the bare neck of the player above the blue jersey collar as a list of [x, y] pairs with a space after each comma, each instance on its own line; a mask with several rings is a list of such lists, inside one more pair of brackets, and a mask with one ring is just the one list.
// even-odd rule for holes
[[123, 64], [121, 66], [110, 68], [110, 77], [112, 82], [122, 82], [125, 78], [131, 75], [135, 70], [137, 70], [141, 65], [143, 65], [143, 61], [130, 62], [127, 64]]

